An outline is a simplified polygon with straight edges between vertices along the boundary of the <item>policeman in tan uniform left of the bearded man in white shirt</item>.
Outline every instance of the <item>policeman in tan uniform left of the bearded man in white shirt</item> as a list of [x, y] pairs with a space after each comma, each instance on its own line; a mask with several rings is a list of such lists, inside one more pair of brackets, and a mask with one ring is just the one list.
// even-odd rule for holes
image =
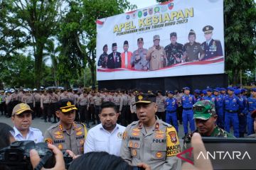
[[60, 150], [71, 150], [74, 154], [83, 154], [83, 145], [87, 135], [84, 124], [75, 123], [74, 102], [70, 99], [58, 101], [56, 115], [60, 122], [46, 130], [44, 140]]

